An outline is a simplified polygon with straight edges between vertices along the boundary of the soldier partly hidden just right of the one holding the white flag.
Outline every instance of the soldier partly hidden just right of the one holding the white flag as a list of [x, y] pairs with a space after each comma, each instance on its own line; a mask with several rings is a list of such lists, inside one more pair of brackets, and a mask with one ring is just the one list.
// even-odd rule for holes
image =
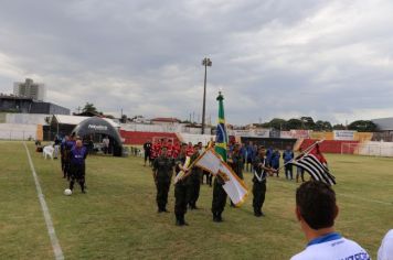
[[[194, 153], [191, 155], [191, 163], [194, 162], [199, 158], [199, 155], [200, 155], [199, 151], [200, 151], [199, 145], [195, 144]], [[201, 176], [202, 176], [202, 170], [200, 167], [194, 166], [191, 169], [191, 174], [187, 180], [188, 185], [189, 185], [188, 204], [189, 204], [190, 209], [198, 209], [197, 202], [198, 202], [199, 193], [201, 189]]]

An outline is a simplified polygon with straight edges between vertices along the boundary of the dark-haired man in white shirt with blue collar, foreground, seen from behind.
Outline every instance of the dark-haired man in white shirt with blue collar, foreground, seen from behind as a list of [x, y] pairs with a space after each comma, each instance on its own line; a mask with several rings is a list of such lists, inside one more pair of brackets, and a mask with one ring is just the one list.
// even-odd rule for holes
[[291, 260], [370, 260], [357, 242], [334, 231], [338, 214], [336, 193], [329, 185], [315, 181], [302, 183], [296, 191], [296, 217], [308, 243]]

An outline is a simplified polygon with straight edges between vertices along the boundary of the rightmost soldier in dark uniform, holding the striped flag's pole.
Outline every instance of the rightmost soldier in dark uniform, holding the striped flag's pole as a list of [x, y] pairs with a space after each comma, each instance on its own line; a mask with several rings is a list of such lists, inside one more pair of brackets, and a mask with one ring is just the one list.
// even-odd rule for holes
[[258, 155], [254, 161], [253, 207], [255, 217], [265, 216], [262, 212], [262, 206], [265, 202], [267, 172], [275, 173], [276, 171], [268, 167], [265, 156], [265, 148], [261, 147], [258, 149]]

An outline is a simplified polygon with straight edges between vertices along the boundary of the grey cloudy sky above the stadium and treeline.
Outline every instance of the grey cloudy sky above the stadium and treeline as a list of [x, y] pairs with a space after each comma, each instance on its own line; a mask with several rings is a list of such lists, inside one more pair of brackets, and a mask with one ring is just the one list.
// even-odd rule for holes
[[75, 111], [231, 123], [393, 116], [391, 0], [3, 0], [0, 93], [26, 77]]

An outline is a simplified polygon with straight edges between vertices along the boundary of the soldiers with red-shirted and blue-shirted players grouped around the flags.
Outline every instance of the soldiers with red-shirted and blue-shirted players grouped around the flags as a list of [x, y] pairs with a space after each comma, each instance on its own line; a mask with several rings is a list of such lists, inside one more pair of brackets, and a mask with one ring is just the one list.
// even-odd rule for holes
[[[214, 142], [211, 141], [208, 147], [214, 147]], [[144, 144], [145, 165], [147, 161], [150, 162], [157, 187], [156, 201], [158, 213], [169, 212], [167, 209], [168, 193], [174, 170], [174, 215], [177, 226], [188, 225], [184, 220], [188, 208], [198, 209], [197, 202], [204, 175], [206, 175], [208, 183], [212, 185], [212, 175], [209, 172], [195, 166], [191, 169], [188, 167], [206, 148], [202, 145], [202, 142], [194, 145], [192, 145], [192, 143], [172, 144], [171, 141], [166, 140], [159, 140], [155, 143], [148, 141]], [[254, 215], [256, 217], [264, 216], [262, 207], [265, 201], [266, 177], [267, 174], [276, 174], [277, 177], [279, 176], [279, 151], [273, 149], [266, 150], [263, 145], [257, 147], [253, 145], [253, 143], [249, 143], [248, 147], [240, 143], [231, 143], [227, 154], [227, 164], [241, 180], [243, 180], [244, 170], [248, 171], [249, 169], [253, 173], [252, 191]], [[188, 161], [188, 158], [190, 158], [190, 161]], [[288, 147], [283, 153], [284, 163], [293, 159], [294, 152], [290, 147]], [[291, 164], [285, 164], [285, 175], [288, 180], [293, 180], [291, 167]], [[179, 175], [181, 172], [183, 173]], [[301, 176], [301, 181], [304, 181], [302, 171], [298, 171], [298, 176]], [[226, 204], [227, 196], [223, 189], [224, 184], [225, 182], [221, 176], [217, 175], [214, 177], [212, 214], [213, 221], [216, 223], [223, 220], [222, 213]], [[232, 202], [231, 206], [236, 207]]]

